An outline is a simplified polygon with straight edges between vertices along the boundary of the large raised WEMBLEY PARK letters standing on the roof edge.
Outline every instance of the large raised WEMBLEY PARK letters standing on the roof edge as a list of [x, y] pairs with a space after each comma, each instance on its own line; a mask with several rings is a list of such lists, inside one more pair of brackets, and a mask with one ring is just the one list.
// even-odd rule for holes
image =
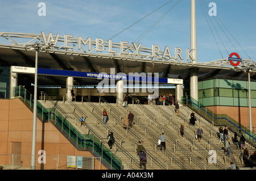
[[[113, 43], [112, 40], [104, 41], [101, 38], [96, 38], [96, 40], [92, 40], [91, 37], [87, 37], [84, 39], [82, 36], [78, 36], [77, 38], [73, 37], [73, 35], [64, 35], [64, 37], [60, 37], [60, 33], [57, 33], [56, 36], [53, 36], [50, 32], [48, 35], [42, 33], [43, 43], [49, 45], [51, 42], [55, 43], [55, 47], [59, 47], [57, 49], [65, 49], [66, 51], [73, 51], [75, 48], [77, 50], [85, 52], [85, 53], [108, 53], [112, 55], [118, 56], [128, 56], [128, 57], [140, 57], [140, 58], [158, 58], [160, 60], [174, 60], [181, 61], [184, 60], [182, 53], [183, 50], [179, 47], [175, 47], [175, 54], [172, 56], [174, 52], [171, 52], [168, 46], [161, 49], [159, 45], [152, 44], [151, 48], [142, 47], [142, 43], [129, 44], [128, 41], [121, 41], [120, 43]], [[192, 61], [195, 60], [193, 58], [192, 53], [195, 49], [187, 49], [187, 61], [191, 58]]]

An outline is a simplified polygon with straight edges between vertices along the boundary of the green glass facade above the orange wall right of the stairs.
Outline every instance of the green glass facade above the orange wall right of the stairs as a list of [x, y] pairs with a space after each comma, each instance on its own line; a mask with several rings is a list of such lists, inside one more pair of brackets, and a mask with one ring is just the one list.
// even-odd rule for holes
[[[198, 89], [204, 106], [249, 106], [247, 81], [211, 79], [200, 81]], [[256, 82], [251, 82], [251, 106], [256, 107]]]

